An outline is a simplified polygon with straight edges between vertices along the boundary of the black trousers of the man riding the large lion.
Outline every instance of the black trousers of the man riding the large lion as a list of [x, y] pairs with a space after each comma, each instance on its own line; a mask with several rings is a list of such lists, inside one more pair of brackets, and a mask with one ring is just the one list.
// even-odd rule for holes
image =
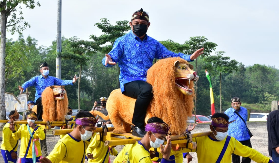
[[152, 86], [144, 81], [136, 80], [124, 84], [124, 95], [136, 98], [132, 123], [137, 127], [144, 127], [146, 110], [153, 97]]

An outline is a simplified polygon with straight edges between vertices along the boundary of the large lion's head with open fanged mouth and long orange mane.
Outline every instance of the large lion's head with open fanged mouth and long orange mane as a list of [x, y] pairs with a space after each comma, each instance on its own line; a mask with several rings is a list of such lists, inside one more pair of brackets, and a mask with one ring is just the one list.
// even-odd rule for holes
[[[190, 66], [190, 67], [189, 67]], [[198, 80], [192, 65], [179, 57], [157, 61], [148, 71], [146, 81], [153, 87], [151, 116], [162, 118], [173, 135], [187, 129], [187, 117], [194, 108], [194, 81]], [[154, 77], [156, 76], [156, 77]]]

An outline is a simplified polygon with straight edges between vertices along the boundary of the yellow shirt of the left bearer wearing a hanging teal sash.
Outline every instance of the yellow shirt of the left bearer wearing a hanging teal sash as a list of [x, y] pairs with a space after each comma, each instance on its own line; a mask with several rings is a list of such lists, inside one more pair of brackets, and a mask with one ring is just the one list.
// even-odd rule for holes
[[[18, 140], [19, 138], [21, 139], [20, 153], [19, 153], [20, 158], [24, 158], [24, 157], [32, 158], [33, 139], [28, 131], [27, 125], [28, 124], [23, 124], [20, 126], [17, 132], [12, 132], [12, 136], [15, 140]], [[39, 125], [35, 125], [35, 126], [36, 126], [35, 130], [30, 127], [34, 139], [44, 140], [45, 139], [44, 129]], [[40, 157], [42, 155], [40, 141], [36, 140], [35, 145], [38, 149], [38, 155], [36, 157]]]

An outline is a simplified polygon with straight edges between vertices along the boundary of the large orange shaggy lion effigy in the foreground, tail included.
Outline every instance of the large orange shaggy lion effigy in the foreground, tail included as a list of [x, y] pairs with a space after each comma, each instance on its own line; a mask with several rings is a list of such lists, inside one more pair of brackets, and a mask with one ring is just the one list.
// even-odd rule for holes
[[[182, 58], [166, 58], [157, 61], [147, 71], [146, 81], [153, 87], [153, 99], [147, 108], [145, 123], [151, 117], [159, 117], [171, 125], [172, 135], [183, 134], [187, 128], [187, 117], [194, 108], [194, 81], [199, 77], [192, 70], [193, 66]], [[110, 119], [114, 133], [131, 131], [136, 99], [127, 97], [120, 89], [113, 90], [107, 100], [108, 116], [90, 111], [103, 119]]]

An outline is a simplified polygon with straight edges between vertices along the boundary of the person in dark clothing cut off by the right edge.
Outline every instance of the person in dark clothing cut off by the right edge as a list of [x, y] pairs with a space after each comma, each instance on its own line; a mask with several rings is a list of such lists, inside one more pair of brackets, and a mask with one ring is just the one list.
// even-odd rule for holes
[[268, 133], [268, 154], [273, 162], [279, 163], [279, 101], [277, 110], [269, 113], [266, 127]]

